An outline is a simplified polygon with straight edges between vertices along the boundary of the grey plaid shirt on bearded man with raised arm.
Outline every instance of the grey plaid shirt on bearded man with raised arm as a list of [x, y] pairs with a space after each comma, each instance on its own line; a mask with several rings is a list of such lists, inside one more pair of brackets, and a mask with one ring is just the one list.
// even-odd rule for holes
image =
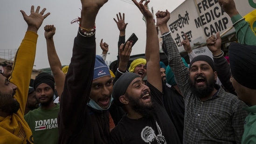
[[183, 144], [241, 144], [244, 119], [248, 115], [242, 108], [246, 104], [220, 86], [215, 88], [217, 95], [207, 101], [194, 96], [189, 71], [171, 34], [166, 33], [162, 38], [163, 51], [185, 98]]

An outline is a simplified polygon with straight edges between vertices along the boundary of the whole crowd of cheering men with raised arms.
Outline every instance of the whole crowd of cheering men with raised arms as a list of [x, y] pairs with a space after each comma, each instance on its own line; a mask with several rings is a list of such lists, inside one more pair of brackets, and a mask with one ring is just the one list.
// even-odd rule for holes
[[212, 57], [195, 55], [185, 35], [188, 65], [167, 27], [170, 13], [159, 10], [167, 66], [160, 62], [150, 1], [132, 0], [146, 21], [145, 59], [128, 68], [132, 41], [124, 45], [128, 23], [125, 14], [117, 14], [116, 74], [104, 62], [103, 39], [103, 54], [96, 55], [95, 20], [107, 1], [81, 0], [68, 67], [62, 68], [55, 51], [54, 25], [44, 27], [53, 75], [40, 73], [35, 80], [30, 77], [37, 31], [50, 13], [34, 6], [30, 15], [21, 10], [28, 29], [13, 65], [0, 75], [0, 144], [256, 144], [256, 35], [234, 0], [218, 0], [238, 39], [229, 46], [229, 63], [217, 32], [206, 41]]

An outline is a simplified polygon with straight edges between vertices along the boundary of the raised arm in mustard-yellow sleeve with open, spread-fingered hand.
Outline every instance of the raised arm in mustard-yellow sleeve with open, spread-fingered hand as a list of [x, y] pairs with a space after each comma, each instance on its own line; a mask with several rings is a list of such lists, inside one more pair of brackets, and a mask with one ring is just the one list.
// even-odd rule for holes
[[9, 81], [18, 87], [14, 97], [20, 103], [20, 110], [23, 115], [27, 103], [30, 77], [35, 61], [35, 49], [38, 37], [37, 31], [39, 27], [41, 27], [43, 20], [50, 14], [44, 14], [46, 8], [43, 8], [41, 12], [39, 10], [39, 6], [36, 10], [34, 10], [34, 6], [31, 6], [30, 15], [27, 15], [21, 10], [21, 14], [28, 24], [28, 29], [15, 55], [13, 71], [9, 77]]

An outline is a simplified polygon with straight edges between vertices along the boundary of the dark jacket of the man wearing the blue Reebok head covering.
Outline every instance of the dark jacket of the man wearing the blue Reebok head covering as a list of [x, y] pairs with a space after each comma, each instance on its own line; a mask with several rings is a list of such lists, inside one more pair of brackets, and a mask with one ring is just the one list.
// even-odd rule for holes
[[96, 55], [95, 35], [77, 34], [58, 117], [59, 144], [107, 144], [109, 112], [87, 106]]

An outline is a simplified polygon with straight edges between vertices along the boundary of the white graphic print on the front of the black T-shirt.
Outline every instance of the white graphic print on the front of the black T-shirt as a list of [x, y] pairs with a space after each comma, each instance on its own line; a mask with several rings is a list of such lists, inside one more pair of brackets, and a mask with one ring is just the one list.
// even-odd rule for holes
[[162, 131], [156, 122], [157, 125], [157, 132], [158, 135], [155, 134], [155, 131], [152, 129], [152, 127], [145, 126], [144, 129], [141, 131], [141, 138], [144, 140], [146, 143], [151, 144], [153, 141], [157, 141], [157, 144], [166, 144], [166, 139], [164, 136], [162, 136]]

